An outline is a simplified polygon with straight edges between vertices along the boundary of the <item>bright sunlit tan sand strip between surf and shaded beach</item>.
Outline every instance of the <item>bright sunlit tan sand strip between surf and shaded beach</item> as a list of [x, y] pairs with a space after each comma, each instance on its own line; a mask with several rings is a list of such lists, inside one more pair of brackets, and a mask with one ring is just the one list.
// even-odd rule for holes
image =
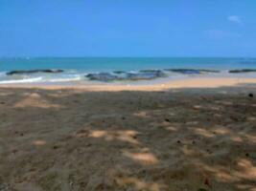
[[240, 77], [189, 77], [182, 79], [172, 79], [168, 81], [147, 81], [146, 84], [140, 83], [105, 83], [105, 84], [0, 84], [0, 88], [32, 88], [32, 89], [81, 89], [86, 91], [164, 91], [169, 89], [182, 88], [219, 88], [219, 87], [239, 87], [241, 85], [256, 84], [256, 78]]

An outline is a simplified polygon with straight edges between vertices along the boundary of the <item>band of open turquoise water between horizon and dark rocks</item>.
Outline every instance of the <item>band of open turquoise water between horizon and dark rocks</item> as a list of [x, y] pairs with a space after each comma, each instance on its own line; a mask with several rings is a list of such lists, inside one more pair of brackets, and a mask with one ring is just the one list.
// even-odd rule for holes
[[256, 68], [256, 58], [204, 57], [67, 57], [67, 58], [0, 58], [0, 71], [32, 69], [66, 69], [87, 72], [142, 69], [243, 69]]

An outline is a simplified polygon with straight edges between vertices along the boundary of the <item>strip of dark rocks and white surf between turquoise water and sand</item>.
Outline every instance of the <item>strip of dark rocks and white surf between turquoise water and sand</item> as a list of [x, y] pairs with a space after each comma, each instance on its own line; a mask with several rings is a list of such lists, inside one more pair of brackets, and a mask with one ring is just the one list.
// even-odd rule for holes
[[0, 85], [94, 86], [152, 85], [193, 78], [256, 78], [256, 69], [144, 69], [137, 71], [89, 72], [64, 69], [36, 69], [0, 72]]

